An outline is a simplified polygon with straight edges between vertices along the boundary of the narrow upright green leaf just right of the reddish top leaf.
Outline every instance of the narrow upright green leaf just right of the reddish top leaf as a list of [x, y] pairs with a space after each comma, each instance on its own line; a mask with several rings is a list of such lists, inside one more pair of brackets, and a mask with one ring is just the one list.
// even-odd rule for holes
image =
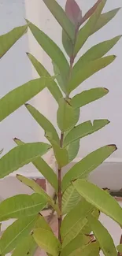
[[76, 39], [76, 46], [75, 46], [75, 55], [79, 52], [83, 44], [87, 41], [88, 37], [91, 35], [91, 31], [94, 29], [94, 25], [97, 23], [98, 17], [102, 13], [102, 9], [105, 6], [106, 0], [102, 0], [97, 9], [95, 9], [94, 13], [91, 15], [90, 19], [87, 21], [87, 24], [83, 26], [79, 30], [77, 39]]

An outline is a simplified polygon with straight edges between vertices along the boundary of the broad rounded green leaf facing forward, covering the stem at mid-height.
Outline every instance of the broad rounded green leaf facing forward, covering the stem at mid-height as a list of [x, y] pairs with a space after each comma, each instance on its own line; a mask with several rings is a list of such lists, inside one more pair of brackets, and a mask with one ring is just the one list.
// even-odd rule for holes
[[79, 109], [73, 109], [70, 102], [65, 98], [61, 98], [59, 108], [57, 110], [57, 124], [61, 132], [66, 132], [73, 128], [79, 120]]

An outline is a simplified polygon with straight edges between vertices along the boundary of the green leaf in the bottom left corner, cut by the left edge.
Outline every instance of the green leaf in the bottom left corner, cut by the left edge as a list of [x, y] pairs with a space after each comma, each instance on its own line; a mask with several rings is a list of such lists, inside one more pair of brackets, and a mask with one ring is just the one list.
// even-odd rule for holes
[[20, 217], [20, 219], [13, 222], [0, 239], [1, 254], [8, 254], [11, 250], [17, 247], [17, 244], [31, 232], [37, 218], [38, 216]]

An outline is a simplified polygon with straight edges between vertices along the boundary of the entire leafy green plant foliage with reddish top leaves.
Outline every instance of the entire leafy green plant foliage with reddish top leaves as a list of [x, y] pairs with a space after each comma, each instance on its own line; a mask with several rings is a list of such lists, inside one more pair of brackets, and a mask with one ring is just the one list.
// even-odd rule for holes
[[[97, 132], [109, 124], [107, 119], [86, 121], [78, 124], [80, 108], [98, 100], [109, 93], [105, 87], [91, 88], [71, 96], [72, 91], [95, 72], [110, 65], [115, 55], [105, 56], [118, 42], [121, 35], [98, 43], [87, 50], [74, 65], [76, 55], [87, 39], [108, 24], [115, 17], [118, 9], [102, 13], [107, 0], [98, 0], [83, 16], [75, 0], [67, 0], [65, 11], [56, 0], [43, 0], [62, 28], [64, 52], [48, 35], [27, 20], [27, 24], [14, 28], [0, 36], [0, 58], [29, 28], [39, 45], [51, 58], [54, 76], [45, 69], [34, 56], [28, 58], [34, 65], [40, 78], [9, 91], [0, 99], [0, 121], [13, 113], [20, 106], [25, 106], [31, 117], [43, 128], [47, 143], [24, 143], [13, 139], [17, 144], [0, 159], [0, 178], [8, 176], [20, 167], [31, 162], [54, 187], [54, 198], [50, 198], [34, 180], [17, 175], [17, 179], [31, 187], [32, 195], [15, 195], [0, 203], [0, 221], [13, 221], [0, 239], [0, 255], [13, 251], [13, 256], [34, 255], [36, 247], [41, 247], [47, 255], [54, 256], [98, 256], [100, 250], [105, 256], [116, 256], [122, 247], [115, 247], [109, 232], [99, 221], [100, 211], [113, 218], [122, 226], [122, 210], [116, 200], [99, 187], [91, 184], [87, 178], [116, 150], [116, 145], [105, 145], [81, 159], [62, 179], [62, 167], [68, 165], [79, 151], [79, 141], [84, 136]], [[84, 24], [85, 22], [85, 24]], [[67, 60], [68, 59], [68, 60]], [[27, 102], [45, 87], [57, 102], [58, 135], [54, 125]], [[43, 160], [50, 148], [54, 150], [57, 161], [57, 175]], [[2, 150], [0, 151], [2, 154]], [[56, 199], [57, 198], [57, 199]], [[52, 209], [58, 217], [58, 238], [54, 235], [40, 211], [44, 207]], [[93, 235], [90, 235], [93, 232]]]

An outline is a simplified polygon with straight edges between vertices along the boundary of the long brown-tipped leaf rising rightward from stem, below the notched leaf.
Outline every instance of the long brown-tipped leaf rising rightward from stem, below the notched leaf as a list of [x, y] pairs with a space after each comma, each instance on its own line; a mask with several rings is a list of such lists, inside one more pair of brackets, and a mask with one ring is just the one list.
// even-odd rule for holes
[[83, 179], [84, 177], [86, 178], [86, 176], [96, 169], [98, 165], [101, 165], [106, 158], [109, 158], [115, 150], [115, 145], [101, 147], [76, 163], [76, 165], [74, 165], [68, 173], [65, 174], [62, 180], [62, 191], [65, 191], [65, 189], [71, 184], [72, 180]]

